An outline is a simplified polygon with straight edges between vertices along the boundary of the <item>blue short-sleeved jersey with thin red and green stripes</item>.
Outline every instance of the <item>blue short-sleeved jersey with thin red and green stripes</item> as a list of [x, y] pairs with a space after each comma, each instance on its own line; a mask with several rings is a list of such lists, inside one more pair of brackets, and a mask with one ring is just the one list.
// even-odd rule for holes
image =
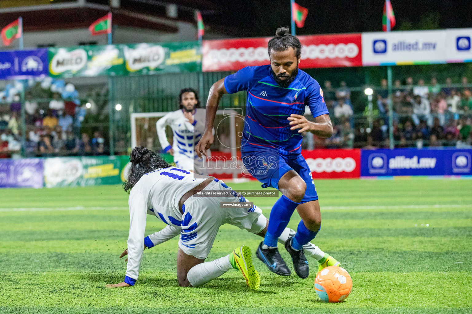
[[290, 130], [287, 118], [303, 115], [305, 105], [313, 117], [329, 114], [320, 84], [300, 69], [295, 80], [283, 88], [272, 77], [270, 65], [246, 66], [225, 77], [225, 88], [229, 94], [247, 91], [241, 151], [262, 146], [283, 155], [300, 153], [302, 135], [299, 129]]

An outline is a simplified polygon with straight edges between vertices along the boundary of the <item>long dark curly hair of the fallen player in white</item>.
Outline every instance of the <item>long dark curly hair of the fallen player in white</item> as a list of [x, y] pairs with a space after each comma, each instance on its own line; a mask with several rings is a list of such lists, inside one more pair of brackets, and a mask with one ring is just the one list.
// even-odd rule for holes
[[168, 168], [170, 165], [160, 155], [152, 150], [139, 146], [133, 148], [129, 155], [131, 168], [123, 188], [130, 192], [133, 186], [143, 177], [144, 174], [156, 169]]

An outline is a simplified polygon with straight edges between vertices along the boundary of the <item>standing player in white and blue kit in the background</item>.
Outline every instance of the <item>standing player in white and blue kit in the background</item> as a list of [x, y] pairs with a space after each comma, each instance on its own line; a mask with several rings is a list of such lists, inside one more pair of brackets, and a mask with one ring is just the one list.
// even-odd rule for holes
[[[194, 151], [205, 129], [205, 109], [194, 89], [182, 89], [179, 94], [180, 109], [170, 112], [156, 123], [157, 135], [163, 151], [174, 156], [177, 167], [197, 174], [206, 174], [202, 159]], [[166, 126], [174, 135], [172, 145], [166, 136]]]

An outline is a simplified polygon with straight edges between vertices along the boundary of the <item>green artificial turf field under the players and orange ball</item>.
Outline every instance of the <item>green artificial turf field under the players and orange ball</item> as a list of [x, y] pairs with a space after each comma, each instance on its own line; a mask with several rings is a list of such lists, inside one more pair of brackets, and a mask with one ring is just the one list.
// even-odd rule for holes
[[[0, 313], [472, 313], [472, 181], [315, 184], [323, 221], [314, 242], [354, 282], [343, 303], [318, 299], [315, 271], [305, 280], [270, 273], [254, 255], [261, 238], [229, 225], [209, 260], [248, 245], [260, 290], [249, 291], [236, 271], [200, 288], [178, 287], [177, 239], [144, 252], [134, 287], [107, 289], [125, 276], [118, 256], [128, 235], [127, 194], [96, 186], [0, 190]], [[270, 208], [275, 199], [252, 201]], [[289, 227], [298, 221], [295, 214]], [[148, 216], [147, 234], [162, 227]], [[310, 266], [318, 267], [312, 259]]]

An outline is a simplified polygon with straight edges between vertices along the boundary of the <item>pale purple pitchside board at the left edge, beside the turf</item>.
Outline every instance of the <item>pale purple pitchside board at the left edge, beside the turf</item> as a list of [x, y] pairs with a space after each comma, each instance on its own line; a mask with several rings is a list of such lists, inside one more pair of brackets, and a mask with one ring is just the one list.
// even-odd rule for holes
[[0, 187], [34, 187], [43, 185], [42, 159], [0, 160]]

